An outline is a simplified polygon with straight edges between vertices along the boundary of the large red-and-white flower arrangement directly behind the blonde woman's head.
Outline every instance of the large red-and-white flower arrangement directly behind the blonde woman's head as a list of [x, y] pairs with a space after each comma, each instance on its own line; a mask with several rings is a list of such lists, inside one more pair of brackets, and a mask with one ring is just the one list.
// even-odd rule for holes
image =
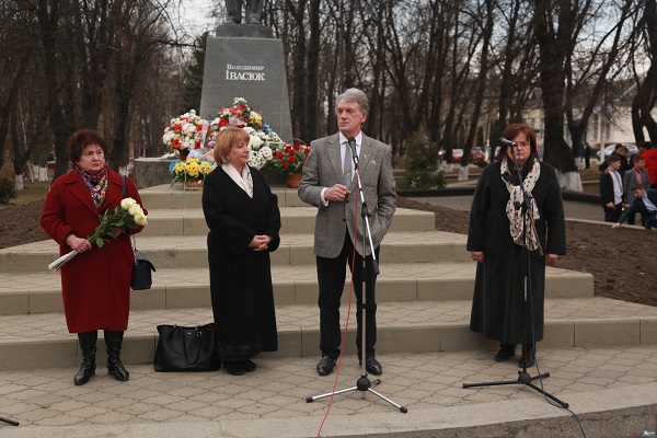
[[217, 135], [227, 126], [242, 128], [249, 134], [249, 165], [255, 169], [262, 169], [272, 159], [272, 148], [283, 143], [280, 137], [264, 123], [262, 113], [243, 97], [235, 97], [231, 106], [217, 112], [217, 118], [210, 122], [208, 147], [215, 147]]

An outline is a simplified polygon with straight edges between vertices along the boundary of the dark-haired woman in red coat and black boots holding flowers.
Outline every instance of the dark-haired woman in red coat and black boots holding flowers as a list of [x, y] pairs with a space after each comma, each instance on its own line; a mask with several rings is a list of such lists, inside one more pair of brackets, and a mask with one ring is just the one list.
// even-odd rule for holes
[[[104, 330], [107, 370], [126, 381], [128, 371], [120, 361], [124, 332], [130, 311], [130, 273], [134, 255], [130, 233], [122, 230], [103, 247], [87, 237], [100, 224], [99, 215], [114, 210], [124, 198], [122, 177], [105, 164], [107, 146], [95, 131], [81, 129], [68, 141], [73, 171], [55, 181], [46, 196], [42, 227], [57, 243], [61, 255], [76, 250], [78, 255], [61, 267], [61, 292], [69, 333], [77, 333], [82, 349], [82, 366], [73, 383], [84, 384], [95, 373], [97, 330]], [[141, 205], [135, 184], [126, 178], [127, 197]], [[145, 210], [145, 215], [147, 211]]]

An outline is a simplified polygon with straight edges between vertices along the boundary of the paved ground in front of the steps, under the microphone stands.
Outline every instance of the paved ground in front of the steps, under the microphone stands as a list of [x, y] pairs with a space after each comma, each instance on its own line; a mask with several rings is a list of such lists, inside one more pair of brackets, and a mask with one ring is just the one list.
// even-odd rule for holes
[[[517, 362], [497, 364], [491, 351], [380, 359], [384, 373], [373, 389], [408, 413], [359, 391], [335, 395], [333, 404], [330, 399], [306, 402], [331, 392], [334, 384], [355, 385], [360, 367], [354, 356], [344, 358], [337, 383], [335, 373], [319, 378], [316, 358], [309, 357], [261, 359], [258, 369], [243, 377], [224, 371], [155, 373], [152, 366], [132, 366], [130, 380], [123, 383], [99, 368], [99, 376], [83, 387], [71, 383], [72, 369], [7, 371], [0, 374], [0, 415], [21, 426], [0, 425], [0, 437], [169, 437], [183, 436], [183, 430], [194, 437], [316, 436], [330, 406], [322, 436], [413, 430], [420, 424], [454, 427], [471, 422], [475, 413], [488, 423], [569, 415], [520, 384], [463, 389], [464, 382], [516, 381]], [[535, 384], [569, 403], [576, 414], [618, 407], [637, 395], [635, 403], [657, 403], [657, 347], [545, 349], [539, 359], [541, 371], [551, 376]], [[620, 394], [623, 401], [614, 401]], [[520, 405], [520, 411], [507, 411]], [[385, 422], [372, 424], [372, 418]], [[350, 428], [344, 428], [347, 419]], [[636, 435], [627, 436], [655, 426], [638, 424]], [[578, 434], [574, 419], [568, 427]]]

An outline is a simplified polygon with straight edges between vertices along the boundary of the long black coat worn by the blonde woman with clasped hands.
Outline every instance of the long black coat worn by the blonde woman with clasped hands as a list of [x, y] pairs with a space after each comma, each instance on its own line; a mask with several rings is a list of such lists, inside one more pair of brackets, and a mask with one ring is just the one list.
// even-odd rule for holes
[[[269, 252], [280, 243], [280, 211], [263, 175], [251, 174], [253, 199], [221, 168], [204, 183], [212, 313], [219, 355], [229, 360], [278, 349]], [[247, 246], [256, 234], [273, 238], [269, 252]]]

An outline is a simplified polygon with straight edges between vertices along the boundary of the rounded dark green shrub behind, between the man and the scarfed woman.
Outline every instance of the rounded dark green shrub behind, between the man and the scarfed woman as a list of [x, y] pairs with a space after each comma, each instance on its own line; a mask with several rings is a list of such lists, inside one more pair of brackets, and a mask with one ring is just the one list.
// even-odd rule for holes
[[403, 160], [404, 177], [401, 188], [436, 188], [445, 187], [445, 175], [438, 170], [437, 143], [429, 141], [423, 131], [414, 132], [406, 139], [406, 151]]

